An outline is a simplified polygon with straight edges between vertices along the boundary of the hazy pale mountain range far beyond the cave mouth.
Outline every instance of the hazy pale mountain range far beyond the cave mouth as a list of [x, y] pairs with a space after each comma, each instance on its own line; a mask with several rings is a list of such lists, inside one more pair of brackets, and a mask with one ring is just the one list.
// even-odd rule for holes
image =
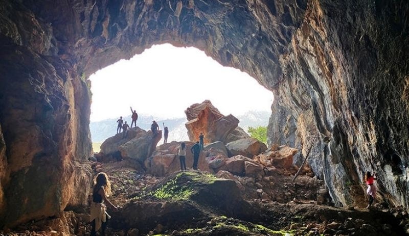
[[[239, 126], [247, 131], [249, 126], [267, 126], [270, 113], [266, 111], [249, 111], [241, 116], [236, 116], [240, 120]], [[91, 132], [91, 139], [93, 142], [103, 142], [105, 139], [115, 135], [117, 133], [117, 120], [119, 119], [106, 119], [97, 122], [90, 122], [89, 129]], [[123, 117], [124, 121], [127, 121], [130, 125], [131, 117]], [[153, 116], [139, 115], [137, 125], [145, 130], [150, 129], [152, 121], [155, 120], [160, 129], [163, 129], [163, 123], [169, 128], [168, 142], [171, 141], [187, 141], [188, 130], [185, 127], [187, 122], [186, 117], [173, 118], [173, 119], [159, 119]]]

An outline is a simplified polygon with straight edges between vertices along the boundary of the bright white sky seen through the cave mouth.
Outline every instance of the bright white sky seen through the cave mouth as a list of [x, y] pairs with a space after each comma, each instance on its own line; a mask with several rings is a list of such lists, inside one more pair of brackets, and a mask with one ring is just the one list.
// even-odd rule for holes
[[270, 111], [272, 92], [253, 77], [224, 67], [194, 47], [154, 45], [130, 60], [89, 77], [90, 121], [138, 114], [185, 117], [186, 108], [209, 99], [223, 115]]

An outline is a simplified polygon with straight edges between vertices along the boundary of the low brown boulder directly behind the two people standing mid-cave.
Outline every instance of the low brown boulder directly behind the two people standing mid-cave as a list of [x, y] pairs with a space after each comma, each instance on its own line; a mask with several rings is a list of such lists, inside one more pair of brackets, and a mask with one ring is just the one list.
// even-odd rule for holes
[[[181, 142], [171, 142], [158, 146], [156, 151], [145, 161], [147, 172], [157, 176], [164, 176], [180, 170], [180, 161], [178, 148]], [[190, 148], [194, 145], [192, 142], [186, 143], [186, 167], [192, 168], [193, 154]], [[206, 160], [205, 153], [201, 152], [197, 168], [201, 171], [210, 171], [209, 163]]]

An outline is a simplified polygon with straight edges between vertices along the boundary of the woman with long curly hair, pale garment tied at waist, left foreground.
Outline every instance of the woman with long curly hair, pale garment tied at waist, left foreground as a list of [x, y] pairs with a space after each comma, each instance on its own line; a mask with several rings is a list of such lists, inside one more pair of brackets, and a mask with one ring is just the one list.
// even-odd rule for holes
[[102, 235], [105, 235], [107, 219], [109, 219], [110, 216], [106, 213], [104, 202], [114, 209], [118, 208], [107, 199], [109, 195], [111, 195], [111, 183], [109, 182], [108, 176], [104, 172], [101, 172], [94, 180], [93, 201], [91, 203], [91, 217], [89, 220], [92, 222], [93, 227], [91, 236], [95, 236], [100, 228], [102, 228]]

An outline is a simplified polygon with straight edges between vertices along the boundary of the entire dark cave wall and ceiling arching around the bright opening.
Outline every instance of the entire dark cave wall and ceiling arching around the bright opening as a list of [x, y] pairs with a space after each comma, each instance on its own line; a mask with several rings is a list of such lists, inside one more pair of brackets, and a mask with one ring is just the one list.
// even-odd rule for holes
[[407, 205], [408, 17], [405, 0], [0, 0], [0, 227], [85, 204], [86, 78], [161, 43], [273, 91], [269, 143], [305, 153], [317, 135], [336, 205], [362, 201], [363, 170]]

